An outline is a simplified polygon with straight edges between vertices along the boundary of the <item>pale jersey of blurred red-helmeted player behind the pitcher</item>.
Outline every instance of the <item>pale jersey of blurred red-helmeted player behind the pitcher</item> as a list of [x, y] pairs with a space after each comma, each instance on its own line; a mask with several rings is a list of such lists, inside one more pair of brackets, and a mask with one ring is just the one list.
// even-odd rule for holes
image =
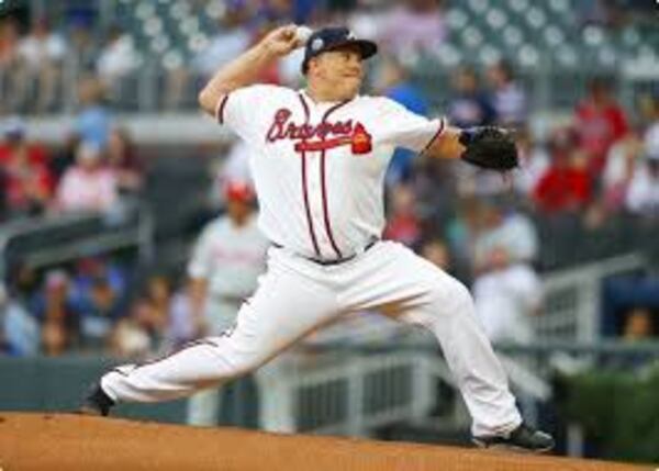
[[247, 298], [256, 289], [258, 276], [265, 271], [268, 245], [256, 217], [237, 227], [228, 216], [220, 216], [201, 233], [188, 274], [208, 280], [212, 295]]

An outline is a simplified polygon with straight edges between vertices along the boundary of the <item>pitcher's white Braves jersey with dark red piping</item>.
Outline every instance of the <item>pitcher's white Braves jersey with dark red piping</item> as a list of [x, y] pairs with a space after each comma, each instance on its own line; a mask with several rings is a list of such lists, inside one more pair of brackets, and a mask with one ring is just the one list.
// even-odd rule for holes
[[227, 94], [216, 117], [252, 150], [265, 235], [327, 260], [380, 237], [382, 182], [394, 148], [422, 152], [445, 126], [387, 98], [316, 104], [305, 91], [265, 85]]

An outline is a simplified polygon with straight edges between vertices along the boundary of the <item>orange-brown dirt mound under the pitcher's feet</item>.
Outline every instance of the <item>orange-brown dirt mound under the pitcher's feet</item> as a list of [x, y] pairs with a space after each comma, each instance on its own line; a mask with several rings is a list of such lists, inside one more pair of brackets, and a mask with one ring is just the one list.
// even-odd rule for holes
[[0, 470], [571, 471], [652, 468], [76, 415], [0, 414]]

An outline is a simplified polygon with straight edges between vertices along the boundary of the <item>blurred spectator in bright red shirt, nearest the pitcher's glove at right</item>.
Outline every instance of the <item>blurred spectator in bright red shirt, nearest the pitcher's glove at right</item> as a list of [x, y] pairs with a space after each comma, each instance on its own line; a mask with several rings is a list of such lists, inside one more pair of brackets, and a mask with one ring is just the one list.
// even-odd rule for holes
[[592, 179], [585, 154], [574, 148], [576, 136], [561, 130], [552, 138], [551, 164], [538, 180], [533, 197], [547, 214], [579, 211], [592, 197]]

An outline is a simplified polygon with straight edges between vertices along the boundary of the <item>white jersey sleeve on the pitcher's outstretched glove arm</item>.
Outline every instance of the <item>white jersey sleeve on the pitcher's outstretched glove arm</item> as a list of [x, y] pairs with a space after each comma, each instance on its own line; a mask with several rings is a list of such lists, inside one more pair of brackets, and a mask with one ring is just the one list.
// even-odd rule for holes
[[379, 117], [382, 121], [379, 139], [382, 144], [424, 152], [442, 134], [446, 121], [428, 120], [409, 111], [393, 100], [380, 99]]

